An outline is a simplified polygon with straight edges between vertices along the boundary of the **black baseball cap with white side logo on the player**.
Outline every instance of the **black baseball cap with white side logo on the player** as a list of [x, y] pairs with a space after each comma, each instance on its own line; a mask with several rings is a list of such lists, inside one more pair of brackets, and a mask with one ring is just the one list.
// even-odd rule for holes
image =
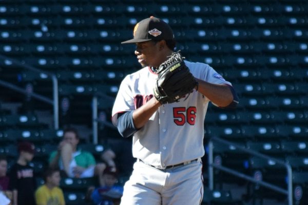
[[134, 26], [133, 38], [126, 40], [121, 44], [132, 44], [147, 42], [149, 40], [171, 40], [174, 39], [174, 33], [170, 26], [162, 19], [151, 16], [141, 20]]

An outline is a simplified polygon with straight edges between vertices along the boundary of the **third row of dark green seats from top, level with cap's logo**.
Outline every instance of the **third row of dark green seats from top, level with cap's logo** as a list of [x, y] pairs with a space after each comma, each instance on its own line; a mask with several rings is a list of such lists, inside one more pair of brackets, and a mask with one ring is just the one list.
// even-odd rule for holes
[[[185, 29], [176, 30], [174, 34], [178, 42], [196, 40], [206, 42], [211, 40], [306, 40], [308, 30], [306, 27], [299, 29], [268, 28], [268, 29]], [[27, 40], [33, 42], [121, 42], [131, 37], [131, 29], [23, 29], [3, 30], [0, 32], [0, 42], [23, 43]]]

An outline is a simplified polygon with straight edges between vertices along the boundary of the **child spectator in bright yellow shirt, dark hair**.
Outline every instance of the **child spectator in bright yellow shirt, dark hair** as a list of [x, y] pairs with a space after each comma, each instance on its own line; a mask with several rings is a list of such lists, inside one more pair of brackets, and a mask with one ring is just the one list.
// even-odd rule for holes
[[47, 169], [44, 173], [44, 185], [35, 192], [36, 205], [65, 205], [60, 185], [60, 170]]

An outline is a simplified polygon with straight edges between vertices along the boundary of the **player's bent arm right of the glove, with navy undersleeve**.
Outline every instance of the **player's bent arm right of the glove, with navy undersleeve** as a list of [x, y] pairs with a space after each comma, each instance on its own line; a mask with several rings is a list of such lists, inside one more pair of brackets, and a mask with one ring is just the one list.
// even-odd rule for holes
[[232, 86], [212, 84], [196, 78], [199, 83], [198, 92], [206, 96], [213, 104], [221, 108], [236, 108], [238, 96]]

